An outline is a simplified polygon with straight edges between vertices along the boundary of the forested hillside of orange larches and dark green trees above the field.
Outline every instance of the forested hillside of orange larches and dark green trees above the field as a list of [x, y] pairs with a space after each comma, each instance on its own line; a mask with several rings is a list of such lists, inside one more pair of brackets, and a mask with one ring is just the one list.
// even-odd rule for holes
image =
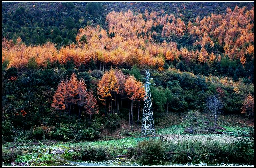
[[[238, 6], [237, 6], [238, 5]], [[11, 142], [94, 140], [142, 121], [145, 69], [156, 125], [168, 111], [254, 122], [252, 2], [4, 2], [2, 133]], [[160, 99], [161, 98], [161, 99]]]

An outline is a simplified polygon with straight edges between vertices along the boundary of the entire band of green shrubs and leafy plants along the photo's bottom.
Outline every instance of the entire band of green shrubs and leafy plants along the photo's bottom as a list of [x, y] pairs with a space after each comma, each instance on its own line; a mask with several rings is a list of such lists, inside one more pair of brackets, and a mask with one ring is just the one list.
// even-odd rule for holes
[[[246, 137], [249, 136], [249, 137]], [[219, 141], [208, 141], [202, 143], [200, 141], [182, 141], [175, 144], [173, 141], [163, 141], [161, 139], [149, 138], [144, 139], [134, 147], [128, 150], [120, 147], [114, 148], [101, 144], [100, 146], [90, 146], [81, 148], [76, 146], [73, 150], [65, 150], [61, 157], [73, 161], [103, 161], [114, 160], [117, 155], [127, 155], [127, 159], [123, 161], [129, 163], [147, 164], [168, 164], [168, 163], [208, 163], [216, 164], [224, 163], [239, 163], [253, 164], [254, 161], [254, 133], [245, 134], [238, 132], [237, 141], [233, 143], [220, 143]], [[65, 146], [50, 145], [34, 146], [34, 152], [24, 153], [17, 156], [16, 164], [26, 162], [29, 165], [51, 165], [56, 164], [58, 157], [53, 157], [51, 152], [54, 147], [66, 148]], [[46, 150], [43, 150], [46, 149]], [[23, 149], [24, 150], [24, 149]], [[25, 149], [26, 150], [26, 149]], [[2, 152], [3, 154], [3, 152]], [[4, 156], [4, 161], [7, 158]], [[58, 159], [57, 159], [58, 160]], [[63, 164], [63, 163], [58, 163]]]

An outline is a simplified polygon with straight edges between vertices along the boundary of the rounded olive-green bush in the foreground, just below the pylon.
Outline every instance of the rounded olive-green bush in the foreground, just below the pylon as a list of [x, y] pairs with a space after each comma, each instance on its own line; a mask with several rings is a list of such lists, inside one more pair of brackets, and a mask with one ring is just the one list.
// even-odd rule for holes
[[142, 164], [158, 164], [166, 160], [166, 144], [160, 139], [144, 140], [137, 147], [138, 160]]

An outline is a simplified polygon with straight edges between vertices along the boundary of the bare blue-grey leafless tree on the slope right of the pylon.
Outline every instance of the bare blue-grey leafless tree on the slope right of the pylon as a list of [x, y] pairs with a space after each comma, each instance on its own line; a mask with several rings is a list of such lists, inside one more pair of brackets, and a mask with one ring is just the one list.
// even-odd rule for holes
[[223, 101], [217, 94], [208, 96], [206, 99], [206, 108], [213, 115], [214, 129], [215, 129], [217, 125], [217, 117], [218, 117], [217, 115], [221, 112], [221, 109], [223, 108]]

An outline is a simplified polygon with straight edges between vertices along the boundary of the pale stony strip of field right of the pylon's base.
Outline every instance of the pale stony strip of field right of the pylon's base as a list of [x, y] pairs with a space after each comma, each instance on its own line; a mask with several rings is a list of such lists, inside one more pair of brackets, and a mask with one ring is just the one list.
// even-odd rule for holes
[[[233, 143], [234, 141], [236, 141], [236, 137], [235, 136], [230, 136], [230, 135], [203, 135], [203, 134], [196, 134], [196, 135], [192, 135], [192, 134], [171, 134], [171, 135], [159, 135], [159, 137], [163, 137], [163, 140], [171, 140], [174, 143], [178, 143], [181, 141], [200, 141], [202, 143], [206, 143], [208, 141], [212, 141], [212, 140], [216, 140], [216, 141], [220, 141], [221, 143]], [[210, 138], [209, 140], [207, 140], [208, 138]], [[211, 140], [212, 139], [212, 140]]]

